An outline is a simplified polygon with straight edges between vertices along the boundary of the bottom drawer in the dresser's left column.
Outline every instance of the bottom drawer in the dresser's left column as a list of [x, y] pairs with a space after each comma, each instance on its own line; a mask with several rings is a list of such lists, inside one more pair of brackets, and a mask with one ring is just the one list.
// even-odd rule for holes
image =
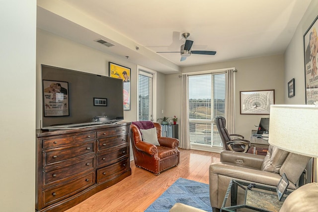
[[74, 178], [65, 184], [43, 190], [42, 198], [44, 200], [43, 206], [46, 207], [52, 203], [61, 201], [71, 195], [78, 193], [81, 190], [93, 185], [95, 183], [95, 172], [90, 172]]

